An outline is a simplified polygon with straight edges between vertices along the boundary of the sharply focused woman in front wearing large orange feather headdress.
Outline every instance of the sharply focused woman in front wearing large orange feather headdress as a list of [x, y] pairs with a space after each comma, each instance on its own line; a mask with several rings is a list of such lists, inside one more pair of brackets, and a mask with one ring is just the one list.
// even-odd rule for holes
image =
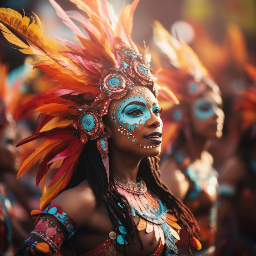
[[[59, 83], [22, 110], [34, 108], [43, 116], [35, 134], [20, 144], [36, 138], [44, 143], [18, 176], [39, 161], [36, 182], [43, 195], [40, 211], [31, 213], [36, 227], [16, 255], [177, 255], [181, 227], [199, 243], [190, 211], [160, 179], [156, 85], [149, 56], [130, 38], [138, 1], [119, 17], [105, 0], [75, 1], [79, 11], [70, 16], [50, 2], [80, 45], [46, 40], [37, 16], [37, 24], [28, 25], [27, 17], [0, 9], [6, 38], [36, 54], [36, 67]], [[49, 171], [56, 174], [45, 188]]]

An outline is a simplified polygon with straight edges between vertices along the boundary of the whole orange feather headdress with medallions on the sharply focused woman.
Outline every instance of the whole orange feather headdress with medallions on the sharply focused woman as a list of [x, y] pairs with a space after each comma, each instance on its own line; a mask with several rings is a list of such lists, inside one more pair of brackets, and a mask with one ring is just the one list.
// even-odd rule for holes
[[[122, 8], [118, 16], [106, 0], [70, 0], [77, 10], [69, 12], [54, 0], [49, 2], [63, 23], [72, 29], [79, 44], [60, 38], [47, 39], [43, 23], [35, 13], [29, 18], [12, 9], [0, 8], [4, 37], [21, 52], [36, 55], [39, 61], [35, 67], [58, 83], [48, 93], [31, 99], [21, 112], [35, 109], [43, 113], [35, 134], [18, 144], [36, 138], [44, 140], [18, 173], [20, 176], [40, 162], [36, 184], [42, 181], [41, 208], [70, 181], [88, 140], [97, 141], [109, 180], [108, 141], [102, 117], [107, 114], [110, 101], [124, 97], [136, 84], [155, 90], [149, 70], [150, 56], [142, 56], [130, 36], [139, 0]], [[46, 173], [56, 166], [58, 171], [45, 189]]]

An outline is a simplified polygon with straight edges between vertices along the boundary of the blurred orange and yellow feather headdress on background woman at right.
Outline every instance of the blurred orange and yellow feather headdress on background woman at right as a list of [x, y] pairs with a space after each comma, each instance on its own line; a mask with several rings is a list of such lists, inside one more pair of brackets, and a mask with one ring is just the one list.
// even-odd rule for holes
[[[189, 139], [188, 103], [200, 97], [206, 90], [219, 93], [218, 85], [200, 62], [193, 49], [180, 38], [172, 36], [158, 21], [153, 24], [153, 43], [150, 53], [157, 83], [160, 85], [158, 100], [163, 109], [163, 143], [167, 146], [177, 137], [179, 130], [184, 130]], [[164, 89], [172, 90], [178, 101], [173, 106], [166, 100]]]

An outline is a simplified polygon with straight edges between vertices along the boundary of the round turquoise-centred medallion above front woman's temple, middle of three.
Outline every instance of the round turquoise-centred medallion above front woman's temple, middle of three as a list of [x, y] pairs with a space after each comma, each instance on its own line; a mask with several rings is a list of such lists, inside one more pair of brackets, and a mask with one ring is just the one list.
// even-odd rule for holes
[[111, 96], [112, 99], [124, 97], [128, 90], [125, 77], [118, 73], [103, 76], [100, 84], [102, 91]]

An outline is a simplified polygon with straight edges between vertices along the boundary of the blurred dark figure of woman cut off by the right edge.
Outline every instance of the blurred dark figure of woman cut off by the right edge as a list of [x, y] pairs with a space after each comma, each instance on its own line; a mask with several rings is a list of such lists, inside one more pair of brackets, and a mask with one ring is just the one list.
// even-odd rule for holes
[[240, 139], [220, 172], [216, 255], [256, 254], [256, 67], [245, 70], [251, 85], [240, 92], [234, 108]]

